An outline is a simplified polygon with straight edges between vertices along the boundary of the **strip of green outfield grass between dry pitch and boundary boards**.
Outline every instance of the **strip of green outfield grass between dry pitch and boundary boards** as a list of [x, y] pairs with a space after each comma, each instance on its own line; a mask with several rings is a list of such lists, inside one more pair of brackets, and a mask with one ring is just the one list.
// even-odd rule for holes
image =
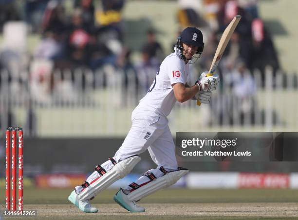
[[[68, 204], [72, 189], [24, 189], [25, 204]], [[93, 203], [114, 203], [117, 189], [103, 191]], [[4, 190], [0, 198], [4, 204]], [[298, 202], [298, 190], [293, 189], [175, 189], [159, 191], [142, 203], [216, 203], [216, 202]]]

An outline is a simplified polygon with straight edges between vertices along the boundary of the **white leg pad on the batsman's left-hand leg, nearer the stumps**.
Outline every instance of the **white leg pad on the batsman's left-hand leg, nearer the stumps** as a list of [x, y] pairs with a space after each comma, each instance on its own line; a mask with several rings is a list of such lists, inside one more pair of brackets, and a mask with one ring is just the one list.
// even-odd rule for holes
[[112, 185], [113, 182], [119, 180], [130, 173], [133, 167], [141, 160], [139, 156], [133, 156], [118, 162], [105, 175], [95, 180], [90, 186], [85, 188], [78, 195], [79, 200], [89, 200], [98, 193]]

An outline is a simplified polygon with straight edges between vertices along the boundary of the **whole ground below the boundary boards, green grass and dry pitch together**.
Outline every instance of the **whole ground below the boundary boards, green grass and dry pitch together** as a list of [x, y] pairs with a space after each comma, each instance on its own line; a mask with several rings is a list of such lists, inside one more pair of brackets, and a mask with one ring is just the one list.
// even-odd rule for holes
[[[145, 213], [130, 213], [113, 202], [116, 191], [106, 190], [94, 199], [98, 213], [83, 213], [66, 200], [71, 189], [27, 189], [24, 209], [36, 210], [38, 220], [298, 220], [298, 190], [167, 189], [142, 200]], [[1, 191], [0, 196], [4, 198]]]

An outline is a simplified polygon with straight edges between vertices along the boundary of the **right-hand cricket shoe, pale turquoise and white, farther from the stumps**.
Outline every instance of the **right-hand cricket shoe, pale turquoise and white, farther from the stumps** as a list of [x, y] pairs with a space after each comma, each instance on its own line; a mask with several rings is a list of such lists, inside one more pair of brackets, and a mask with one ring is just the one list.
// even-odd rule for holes
[[128, 195], [123, 192], [122, 188], [114, 196], [114, 201], [130, 212], [145, 212], [144, 207], [138, 206], [135, 201], [128, 199]]

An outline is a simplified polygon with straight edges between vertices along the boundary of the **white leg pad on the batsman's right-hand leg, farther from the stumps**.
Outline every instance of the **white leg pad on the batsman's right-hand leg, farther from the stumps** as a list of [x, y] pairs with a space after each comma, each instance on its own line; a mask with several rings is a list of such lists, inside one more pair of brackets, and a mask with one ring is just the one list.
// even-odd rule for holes
[[128, 199], [131, 201], [138, 201], [150, 194], [156, 192], [159, 189], [168, 187], [176, 183], [181, 177], [186, 175], [189, 170], [177, 170], [173, 172], [169, 172], [166, 175], [159, 177], [148, 184], [132, 191], [128, 195]]

